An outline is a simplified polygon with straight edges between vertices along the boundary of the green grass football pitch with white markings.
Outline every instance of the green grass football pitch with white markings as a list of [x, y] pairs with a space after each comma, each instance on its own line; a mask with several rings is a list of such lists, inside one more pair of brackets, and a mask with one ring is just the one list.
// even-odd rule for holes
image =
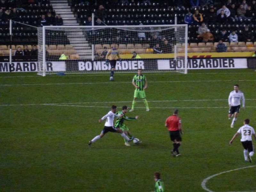
[[[245, 118], [256, 128], [254, 70], [145, 73], [150, 111], [138, 100], [127, 116], [139, 119], [125, 122], [142, 143], [128, 147], [109, 132], [89, 148], [112, 105], [131, 107], [135, 74], [116, 73], [110, 82], [109, 74], [0, 73], [0, 191], [149, 192], [156, 171], [167, 192], [256, 191], [256, 155], [244, 162], [240, 136], [228, 145]], [[234, 84], [244, 92], [245, 109], [230, 128]], [[184, 131], [180, 157], [171, 156], [164, 127], [174, 108]]]

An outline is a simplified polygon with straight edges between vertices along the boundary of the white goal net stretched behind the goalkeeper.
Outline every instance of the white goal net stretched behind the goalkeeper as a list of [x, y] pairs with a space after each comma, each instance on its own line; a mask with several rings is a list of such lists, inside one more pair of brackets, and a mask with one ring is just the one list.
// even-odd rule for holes
[[116, 72], [187, 73], [187, 25], [43, 26], [38, 28], [39, 75], [107, 73], [109, 50]]

